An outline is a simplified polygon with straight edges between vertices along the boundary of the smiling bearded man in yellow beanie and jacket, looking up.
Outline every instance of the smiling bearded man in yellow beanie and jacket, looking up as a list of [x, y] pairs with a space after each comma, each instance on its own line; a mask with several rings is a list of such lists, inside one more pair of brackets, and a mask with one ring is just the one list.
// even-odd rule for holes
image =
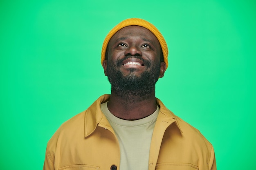
[[50, 139], [44, 170], [216, 170], [212, 145], [155, 98], [168, 67], [161, 33], [138, 18], [108, 33], [101, 63], [111, 95], [66, 121]]

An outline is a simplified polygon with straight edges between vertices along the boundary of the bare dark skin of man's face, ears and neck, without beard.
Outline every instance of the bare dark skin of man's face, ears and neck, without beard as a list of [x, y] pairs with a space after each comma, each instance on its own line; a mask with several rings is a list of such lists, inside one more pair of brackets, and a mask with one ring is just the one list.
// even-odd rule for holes
[[[104, 73], [108, 76], [106, 72], [108, 62], [113, 62], [117, 67], [117, 60], [128, 55], [139, 55], [144, 60], [150, 61], [152, 66], [160, 62], [161, 53], [161, 46], [151, 31], [141, 26], [127, 26], [115, 33], [110, 39], [108, 44], [108, 60], [103, 61]], [[135, 63], [131, 64], [131, 62]], [[117, 68], [124, 76], [130, 74], [140, 76], [144, 71], [150, 70], [150, 66], [145, 66], [144, 62], [137, 58], [128, 58]], [[131, 71], [130, 68], [135, 69]], [[166, 64], [160, 62], [159, 78], [164, 77], [165, 70]], [[111, 90], [111, 96], [108, 102], [110, 112], [121, 119], [137, 120], [151, 115], [157, 109], [155, 102], [155, 86], [153, 87], [153, 91], [148, 94], [147, 99], [142, 101], [138, 99], [139, 102], [134, 103], [129, 101], [139, 96], [129, 97], [131, 100], [124, 100]]]

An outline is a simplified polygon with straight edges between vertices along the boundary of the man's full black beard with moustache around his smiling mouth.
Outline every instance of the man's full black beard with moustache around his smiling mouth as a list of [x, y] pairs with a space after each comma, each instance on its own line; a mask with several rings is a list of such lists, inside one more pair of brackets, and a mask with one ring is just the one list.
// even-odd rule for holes
[[[125, 60], [125, 59], [124, 59]], [[133, 72], [136, 68], [130, 68], [130, 74], [124, 76], [117, 68], [121, 65], [117, 62], [117, 66], [108, 62], [107, 75], [111, 84], [112, 93], [129, 101], [138, 102], [148, 99], [148, 96], [155, 90], [155, 84], [159, 78], [160, 63], [152, 65], [149, 71], [145, 71], [140, 76]], [[149, 68], [151, 63], [145, 62], [145, 67]]]

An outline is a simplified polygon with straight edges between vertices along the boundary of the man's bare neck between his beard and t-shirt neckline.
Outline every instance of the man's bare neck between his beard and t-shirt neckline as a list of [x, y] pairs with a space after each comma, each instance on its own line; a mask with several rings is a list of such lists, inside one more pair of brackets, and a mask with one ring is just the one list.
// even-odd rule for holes
[[155, 87], [147, 95], [138, 95], [136, 91], [115, 92], [111, 90], [108, 109], [110, 112], [125, 120], [137, 120], [155, 112]]

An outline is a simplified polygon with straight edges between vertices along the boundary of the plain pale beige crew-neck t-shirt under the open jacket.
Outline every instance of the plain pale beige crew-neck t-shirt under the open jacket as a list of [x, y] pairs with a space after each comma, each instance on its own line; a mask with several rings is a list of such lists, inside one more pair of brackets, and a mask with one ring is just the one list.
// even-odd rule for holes
[[108, 110], [107, 102], [101, 104], [101, 110], [119, 141], [120, 170], [148, 170], [150, 143], [159, 107], [157, 106], [153, 114], [139, 120], [124, 120], [115, 117]]

